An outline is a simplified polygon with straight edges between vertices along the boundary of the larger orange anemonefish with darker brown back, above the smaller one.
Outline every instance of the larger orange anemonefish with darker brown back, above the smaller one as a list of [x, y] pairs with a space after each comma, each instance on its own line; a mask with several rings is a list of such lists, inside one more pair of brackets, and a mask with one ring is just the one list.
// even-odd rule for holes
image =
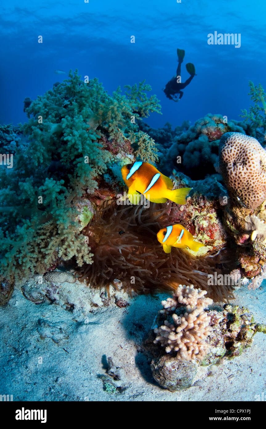
[[132, 204], [138, 204], [141, 193], [151, 202], [166, 202], [170, 199], [177, 204], [185, 204], [185, 197], [192, 189], [172, 190], [173, 182], [169, 177], [160, 173], [155, 166], [142, 161], [124, 165], [121, 173], [129, 187], [128, 197]]

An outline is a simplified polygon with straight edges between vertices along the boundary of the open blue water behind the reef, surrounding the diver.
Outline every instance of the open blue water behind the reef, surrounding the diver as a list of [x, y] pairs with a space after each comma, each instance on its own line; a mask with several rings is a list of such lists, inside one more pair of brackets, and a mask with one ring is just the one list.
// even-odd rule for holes
[[[250, 104], [249, 79], [266, 88], [265, 0], [2, 0], [1, 9], [0, 123], [26, 121], [24, 98], [66, 78], [55, 69], [77, 68], [109, 92], [146, 79], [162, 106], [163, 115], [146, 121], [153, 127], [193, 123], [209, 112], [239, 120]], [[240, 33], [240, 48], [208, 45], [215, 31]], [[178, 103], [162, 91], [176, 73], [176, 48], [185, 49], [182, 82], [185, 63], [197, 73]]]

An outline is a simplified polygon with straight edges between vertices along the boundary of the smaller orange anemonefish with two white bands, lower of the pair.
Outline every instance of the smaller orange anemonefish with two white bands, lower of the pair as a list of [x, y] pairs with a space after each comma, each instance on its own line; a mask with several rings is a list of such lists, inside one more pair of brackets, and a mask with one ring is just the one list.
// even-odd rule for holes
[[183, 249], [188, 247], [197, 252], [200, 247], [204, 246], [202, 243], [195, 242], [192, 234], [179, 224], [162, 228], [157, 234], [157, 239], [165, 253], [170, 253], [172, 247]]

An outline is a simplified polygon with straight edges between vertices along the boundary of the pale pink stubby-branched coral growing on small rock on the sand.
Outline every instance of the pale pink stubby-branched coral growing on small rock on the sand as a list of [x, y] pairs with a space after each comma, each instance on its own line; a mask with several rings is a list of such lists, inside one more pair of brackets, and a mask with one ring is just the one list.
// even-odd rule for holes
[[[165, 351], [177, 352], [176, 357], [183, 360], [203, 360], [209, 350], [206, 338], [211, 333], [210, 317], [204, 311], [212, 304], [212, 299], [205, 298], [206, 291], [194, 289], [194, 286], [182, 286], [176, 289], [172, 298], [162, 301], [165, 313], [172, 314], [173, 324], [164, 321], [164, 325], [155, 328], [157, 335], [154, 342], [159, 342]], [[176, 310], [185, 305], [185, 313]], [[183, 308], [184, 309], [184, 308]], [[181, 310], [182, 311], [182, 310]]]

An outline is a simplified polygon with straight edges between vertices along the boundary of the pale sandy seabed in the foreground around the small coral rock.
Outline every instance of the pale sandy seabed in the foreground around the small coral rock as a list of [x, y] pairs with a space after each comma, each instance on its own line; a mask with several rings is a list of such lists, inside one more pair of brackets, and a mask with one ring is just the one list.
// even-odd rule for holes
[[[263, 286], [264, 285], [264, 286]], [[255, 291], [236, 290], [232, 303], [247, 306], [257, 323], [266, 323], [266, 282]], [[40, 304], [16, 287], [0, 308], [0, 394], [13, 401], [254, 401], [266, 397], [266, 335], [217, 372], [200, 372], [197, 386], [171, 393], [152, 378], [142, 341], [151, 329], [161, 300], [83, 284], [54, 287], [54, 299]], [[108, 306], [105, 306], [108, 302]], [[127, 302], [129, 305], [126, 305]], [[123, 303], [125, 307], [117, 305]], [[120, 381], [108, 392], [107, 358], [119, 367]]]

